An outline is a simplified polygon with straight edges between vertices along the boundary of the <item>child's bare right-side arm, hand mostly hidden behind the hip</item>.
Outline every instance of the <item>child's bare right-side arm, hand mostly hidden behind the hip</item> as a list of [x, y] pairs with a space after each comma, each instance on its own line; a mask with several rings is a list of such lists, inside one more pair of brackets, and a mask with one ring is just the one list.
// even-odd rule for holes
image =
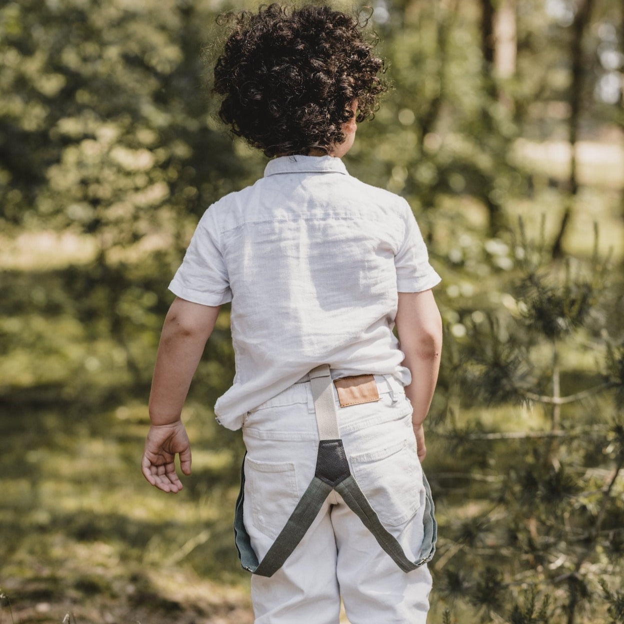
[[403, 366], [412, 374], [412, 383], [405, 387], [405, 394], [414, 407], [412, 424], [422, 462], [427, 454], [422, 421], [436, 389], [442, 349], [442, 319], [431, 290], [399, 293], [394, 322], [405, 354]]

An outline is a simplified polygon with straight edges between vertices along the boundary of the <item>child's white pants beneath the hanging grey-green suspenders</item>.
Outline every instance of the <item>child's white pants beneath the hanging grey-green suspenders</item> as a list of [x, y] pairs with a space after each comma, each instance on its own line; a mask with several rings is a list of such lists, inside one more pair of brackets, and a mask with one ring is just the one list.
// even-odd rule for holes
[[[379, 401], [340, 407], [349, 467], [386, 529], [412, 560], [423, 537], [425, 490], [412, 407], [392, 376], [375, 376]], [[318, 431], [310, 383], [294, 384], [249, 412], [243, 517], [261, 560], [314, 476]], [[424, 624], [431, 574], [402, 572], [336, 492], [272, 577], [253, 575], [255, 624]]]

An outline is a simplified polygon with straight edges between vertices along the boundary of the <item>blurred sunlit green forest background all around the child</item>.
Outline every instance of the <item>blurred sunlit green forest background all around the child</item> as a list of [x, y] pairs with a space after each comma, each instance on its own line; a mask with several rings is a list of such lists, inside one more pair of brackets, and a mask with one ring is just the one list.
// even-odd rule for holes
[[[407, 198], [444, 280], [429, 621], [622, 623], [624, 5], [333, 6], [371, 16], [394, 83], [346, 165]], [[168, 281], [266, 162], [209, 95], [230, 7], [0, 3], [2, 623], [253, 620], [243, 447], [212, 412], [227, 306], [185, 407], [192, 476], [174, 498], [139, 470]]]

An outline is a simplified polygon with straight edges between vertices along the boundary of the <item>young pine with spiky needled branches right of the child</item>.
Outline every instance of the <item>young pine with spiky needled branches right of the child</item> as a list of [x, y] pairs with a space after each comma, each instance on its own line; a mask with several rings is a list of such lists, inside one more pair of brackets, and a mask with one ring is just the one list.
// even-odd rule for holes
[[[550, 431], [515, 436], [521, 446], [505, 451], [511, 453], [509, 461], [492, 454], [496, 459], [490, 466], [502, 479], [498, 495], [490, 499], [505, 513], [495, 514], [495, 507], [457, 527], [452, 540], [464, 555], [447, 565], [443, 586], [449, 597], [466, 593], [484, 617], [494, 617], [515, 600], [509, 588], [514, 578], [522, 578], [548, 598], [538, 607], [537, 593], [525, 595], [524, 606], [517, 602], [510, 611], [513, 622], [550, 622], [551, 603], [573, 622], [595, 606], [595, 583], [622, 569], [624, 531], [617, 525], [622, 515], [618, 477], [624, 467], [617, 415], [622, 382], [619, 346], [609, 337], [605, 313], [613, 276], [597, 254], [588, 261], [575, 259], [572, 270], [569, 259], [550, 265], [539, 246], [520, 238], [519, 266], [510, 271], [507, 285], [515, 296], [505, 312], [487, 311], [487, 323], [467, 324], [469, 334], [459, 345], [464, 366], [455, 372], [470, 402], [498, 402], [511, 410], [523, 401], [533, 413], [541, 406], [542, 417], [531, 420]], [[578, 376], [575, 358], [585, 349], [605, 363], [607, 373]], [[592, 417], [590, 409], [615, 416], [610, 423]], [[449, 424], [463, 444], [506, 437], [504, 431], [489, 434]], [[487, 467], [482, 470], [487, 474]], [[469, 553], [485, 544], [493, 549], [490, 567], [472, 578], [460, 573], [460, 568], [478, 569]]]

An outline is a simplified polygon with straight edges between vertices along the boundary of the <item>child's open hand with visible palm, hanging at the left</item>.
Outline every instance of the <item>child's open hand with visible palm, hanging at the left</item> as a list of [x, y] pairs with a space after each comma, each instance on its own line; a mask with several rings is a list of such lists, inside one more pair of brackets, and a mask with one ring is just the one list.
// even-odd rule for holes
[[182, 421], [152, 425], [145, 439], [141, 470], [145, 479], [163, 492], [179, 492], [182, 483], [175, 472], [175, 456], [180, 454], [180, 468], [191, 474], [191, 445]]

